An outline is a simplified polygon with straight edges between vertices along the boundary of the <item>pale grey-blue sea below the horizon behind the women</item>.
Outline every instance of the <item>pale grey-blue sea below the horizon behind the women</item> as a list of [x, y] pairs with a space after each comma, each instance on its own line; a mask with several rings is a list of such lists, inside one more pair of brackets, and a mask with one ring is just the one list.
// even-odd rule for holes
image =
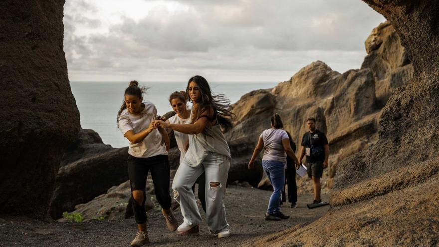
[[[233, 104], [250, 91], [276, 86], [279, 82], [210, 82], [214, 94], [224, 94]], [[139, 82], [148, 90], [144, 101], [153, 102], [159, 115], [172, 108], [169, 95], [174, 91], [186, 90], [185, 82]], [[114, 148], [128, 146], [128, 140], [117, 129], [116, 116], [124, 98], [128, 82], [71, 81], [70, 86], [79, 109], [81, 127], [96, 131], [105, 144]]]

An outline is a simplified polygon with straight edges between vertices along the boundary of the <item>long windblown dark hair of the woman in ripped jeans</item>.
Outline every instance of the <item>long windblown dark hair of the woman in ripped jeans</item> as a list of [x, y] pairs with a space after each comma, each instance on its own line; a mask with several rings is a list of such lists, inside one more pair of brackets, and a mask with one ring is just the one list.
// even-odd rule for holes
[[[187, 95], [189, 95], [189, 84], [191, 82], [197, 83], [201, 96], [200, 102], [198, 102], [199, 107], [193, 112], [194, 117], [192, 123], [201, 117], [201, 113], [209, 111], [210, 108], [212, 108], [214, 110], [214, 117], [217, 119], [217, 122], [222, 129], [224, 131], [229, 130], [232, 127], [230, 119], [232, 118], [232, 115], [234, 115], [230, 111], [230, 101], [226, 99], [223, 94], [213, 95], [208, 81], [200, 75], [193, 76], [189, 79], [188, 86], [186, 87]], [[189, 101], [194, 103], [191, 99], [189, 99]], [[206, 128], [203, 130], [203, 134], [208, 135]]]

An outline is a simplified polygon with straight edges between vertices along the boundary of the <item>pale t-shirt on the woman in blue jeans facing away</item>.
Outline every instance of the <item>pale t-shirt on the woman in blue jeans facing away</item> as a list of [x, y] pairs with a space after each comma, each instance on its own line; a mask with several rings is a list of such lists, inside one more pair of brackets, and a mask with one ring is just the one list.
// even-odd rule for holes
[[289, 139], [285, 130], [266, 129], [260, 135], [264, 141], [264, 156], [262, 160], [277, 160], [286, 163], [286, 153], [282, 145], [283, 139]]

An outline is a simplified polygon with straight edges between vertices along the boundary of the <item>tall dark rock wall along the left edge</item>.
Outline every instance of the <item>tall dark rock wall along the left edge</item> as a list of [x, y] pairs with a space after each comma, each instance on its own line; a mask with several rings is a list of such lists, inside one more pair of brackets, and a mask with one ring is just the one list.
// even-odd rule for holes
[[79, 131], [63, 4], [0, 2], [0, 214], [45, 217], [62, 154]]

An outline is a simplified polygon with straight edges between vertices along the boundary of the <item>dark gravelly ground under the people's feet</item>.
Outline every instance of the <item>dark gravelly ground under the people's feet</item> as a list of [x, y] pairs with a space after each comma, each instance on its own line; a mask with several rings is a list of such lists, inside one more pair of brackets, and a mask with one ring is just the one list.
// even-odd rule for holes
[[[266, 222], [263, 219], [269, 191], [253, 188], [229, 186], [225, 199], [227, 221], [231, 236], [218, 239], [209, 234], [206, 223], [200, 226], [201, 235], [197, 237], [179, 237], [167, 231], [160, 213], [148, 213], [148, 227], [151, 244], [148, 246], [237, 246], [254, 237], [260, 237], [293, 227], [307, 224], [320, 218], [329, 207], [308, 210], [306, 204], [312, 196], [299, 196], [298, 207], [289, 208], [287, 203], [282, 212], [291, 218], [280, 222]], [[328, 198], [324, 195], [324, 201]], [[201, 209], [201, 207], [200, 207]], [[202, 211], [202, 210], [201, 210]], [[180, 210], [176, 212], [181, 222]], [[204, 212], [202, 216], [205, 218]], [[129, 246], [136, 234], [134, 219], [123, 221], [90, 221], [84, 223], [43, 222], [28, 218], [0, 218], [0, 246], [28, 247], [124, 247]]]

